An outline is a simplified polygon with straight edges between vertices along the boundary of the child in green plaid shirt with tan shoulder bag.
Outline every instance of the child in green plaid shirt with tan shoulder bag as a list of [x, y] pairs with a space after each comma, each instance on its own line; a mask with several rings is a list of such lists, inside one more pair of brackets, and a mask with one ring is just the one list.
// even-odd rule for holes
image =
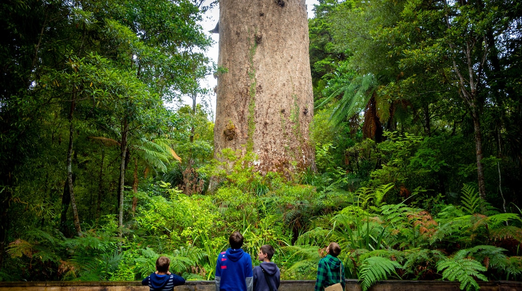
[[341, 260], [337, 258], [341, 253], [341, 247], [337, 243], [330, 243], [326, 248], [326, 257], [319, 261], [317, 266], [317, 280], [315, 281], [315, 291], [323, 291], [325, 287], [341, 283], [342, 289], [345, 286], [345, 268]]

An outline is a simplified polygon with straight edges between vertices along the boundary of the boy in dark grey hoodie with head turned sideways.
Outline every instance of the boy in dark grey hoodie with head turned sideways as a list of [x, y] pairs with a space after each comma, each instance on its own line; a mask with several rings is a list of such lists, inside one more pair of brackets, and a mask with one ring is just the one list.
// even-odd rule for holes
[[264, 245], [259, 249], [257, 259], [262, 261], [254, 268], [254, 291], [276, 291], [279, 288], [279, 268], [270, 260], [274, 256], [274, 247]]

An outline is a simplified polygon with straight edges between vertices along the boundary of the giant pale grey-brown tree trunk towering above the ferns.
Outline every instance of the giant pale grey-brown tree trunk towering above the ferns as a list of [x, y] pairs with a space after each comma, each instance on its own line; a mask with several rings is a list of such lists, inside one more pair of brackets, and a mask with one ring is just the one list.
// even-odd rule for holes
[[265, 174], [315, 168], [304, 0], [220, 0], [215, 156], [257, 154]]

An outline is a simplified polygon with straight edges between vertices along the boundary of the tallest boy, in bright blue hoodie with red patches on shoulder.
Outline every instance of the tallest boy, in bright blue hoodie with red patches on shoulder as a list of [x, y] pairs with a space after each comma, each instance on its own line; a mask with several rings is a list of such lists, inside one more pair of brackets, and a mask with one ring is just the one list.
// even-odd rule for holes
[[243, 235], [233, 232], [230, 248], [219, 253], [216, 263], [216, 291], [252, 291], [252, 258], [243, 251]]

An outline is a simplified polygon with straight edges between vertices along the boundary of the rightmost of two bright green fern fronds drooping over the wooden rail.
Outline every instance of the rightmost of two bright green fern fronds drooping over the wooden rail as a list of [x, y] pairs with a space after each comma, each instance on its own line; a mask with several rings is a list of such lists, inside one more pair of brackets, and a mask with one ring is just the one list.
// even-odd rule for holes
[[487, 271], [487, 268], [477, 260], [468, 258], [468, 253], [468, 250], [459, 250], [454, 257], [437, 262], [437, 272], [442, 271], [443, 279], [460, 282], [461, 290], [479, 289], [475, 277], [488, 281], [488, 278], [480, 273]]

